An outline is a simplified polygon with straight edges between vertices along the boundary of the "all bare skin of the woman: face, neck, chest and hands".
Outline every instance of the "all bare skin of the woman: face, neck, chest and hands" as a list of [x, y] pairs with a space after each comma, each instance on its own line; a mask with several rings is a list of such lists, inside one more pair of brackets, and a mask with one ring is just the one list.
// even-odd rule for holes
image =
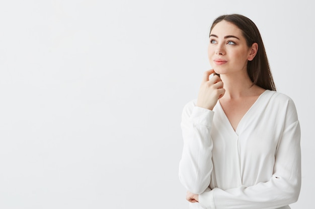
[[[203, 75], [196, 105], [213, 110], [219, 100], [234, 131], [265, 91], [253, 85], [247, 73], [247, 63], [254, 59], [257, 50], [257, 43], [248, 47], [242, 31], [229, 22], [221, 21], [211, 31], [208, 59], [213, 69]], [[214, 72], [220, 77], [211, 76]], [[198, 202], [198, 194], [188, 191], [186, 199]]]

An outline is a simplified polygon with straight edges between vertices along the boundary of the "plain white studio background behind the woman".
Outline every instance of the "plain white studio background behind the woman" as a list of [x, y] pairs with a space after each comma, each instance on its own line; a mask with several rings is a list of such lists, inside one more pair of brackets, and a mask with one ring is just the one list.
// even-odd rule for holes
[[188, 208], [181, 112], [210, 68], [209, 27], [230, 13], [256, 23], [278, 91], [296, 104], [291, 207], [312, 207], [310, 1], [108, 2], [1, 1], [0, 208]]

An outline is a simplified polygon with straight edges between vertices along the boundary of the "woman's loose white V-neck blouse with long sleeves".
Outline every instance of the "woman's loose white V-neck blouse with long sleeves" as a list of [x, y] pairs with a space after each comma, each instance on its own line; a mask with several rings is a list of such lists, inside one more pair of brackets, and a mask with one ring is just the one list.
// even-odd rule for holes
[[300, 126], [294, 102], [266, 90], [234, 131], [220, 102], [183, 109], [179, 178], [199, 194], [190, 208], [290, 208], [301, 186]]

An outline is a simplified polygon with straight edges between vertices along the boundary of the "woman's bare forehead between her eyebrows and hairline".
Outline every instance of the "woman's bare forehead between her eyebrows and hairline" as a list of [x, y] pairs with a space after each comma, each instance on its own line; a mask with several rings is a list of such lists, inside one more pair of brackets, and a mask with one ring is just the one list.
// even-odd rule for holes
[[227, 21], [221, 21], [217, 23], [211, 31], [211, 35], [212, 34], [217, 35], [218, 37], [231, 36], [231, 35], [237, 36], [239, 38], [243, 37], [242, 30], [239, 29], [234, 24]]

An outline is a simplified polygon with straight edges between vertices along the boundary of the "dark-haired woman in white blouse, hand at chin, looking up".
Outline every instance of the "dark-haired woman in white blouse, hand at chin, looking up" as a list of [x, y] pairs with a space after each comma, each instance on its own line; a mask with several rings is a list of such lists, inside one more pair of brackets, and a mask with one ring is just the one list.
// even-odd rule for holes
[[182, 114], [179, 178], [190, 208], [290, 208], [301, 186], [295, 105], [276, 92], [250, 19], [220, 16], [209, 38], [213, 70]]

